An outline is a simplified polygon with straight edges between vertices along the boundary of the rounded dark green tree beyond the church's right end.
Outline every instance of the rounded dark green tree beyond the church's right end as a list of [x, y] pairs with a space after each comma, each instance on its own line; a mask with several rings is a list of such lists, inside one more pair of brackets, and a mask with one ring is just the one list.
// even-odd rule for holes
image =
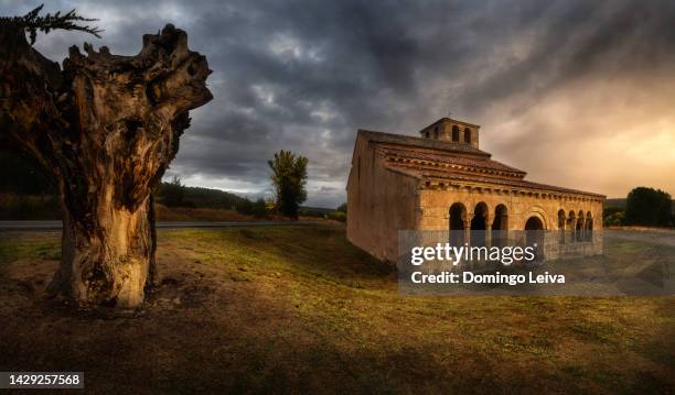
[[668, 227], [672, 219], [671, 195], [654, 188], [638, 187], [625, 200], [625, 224]]

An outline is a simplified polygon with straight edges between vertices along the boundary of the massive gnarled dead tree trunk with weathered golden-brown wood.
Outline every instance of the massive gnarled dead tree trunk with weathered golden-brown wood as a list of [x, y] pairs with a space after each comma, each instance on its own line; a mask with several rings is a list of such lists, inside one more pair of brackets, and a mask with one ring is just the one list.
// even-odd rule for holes
[[175, 156], [188, 111], [212, 99], [206, 58], [167, 25], [136, 56], [85, 44], [63, 70], [23, 29], [0, 24], [0, 133], [57, 183], [62, 260], [49, 287], [81, 304], [135, 307], [154, 273], [152, 187]]

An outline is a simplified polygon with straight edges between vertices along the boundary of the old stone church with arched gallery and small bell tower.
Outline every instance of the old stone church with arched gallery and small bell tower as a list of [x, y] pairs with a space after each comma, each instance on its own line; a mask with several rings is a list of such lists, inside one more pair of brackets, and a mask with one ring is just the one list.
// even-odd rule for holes
[[[442, 118], [419, 138], [360, 130], [347, 180], [347, 239], [396, 262], [399, 230], [559, 230], [590, 244], [604, 196], [525, 180], [479, 149], [479, 125]], [[457, 232], [456, 232], [457, 233]]]

